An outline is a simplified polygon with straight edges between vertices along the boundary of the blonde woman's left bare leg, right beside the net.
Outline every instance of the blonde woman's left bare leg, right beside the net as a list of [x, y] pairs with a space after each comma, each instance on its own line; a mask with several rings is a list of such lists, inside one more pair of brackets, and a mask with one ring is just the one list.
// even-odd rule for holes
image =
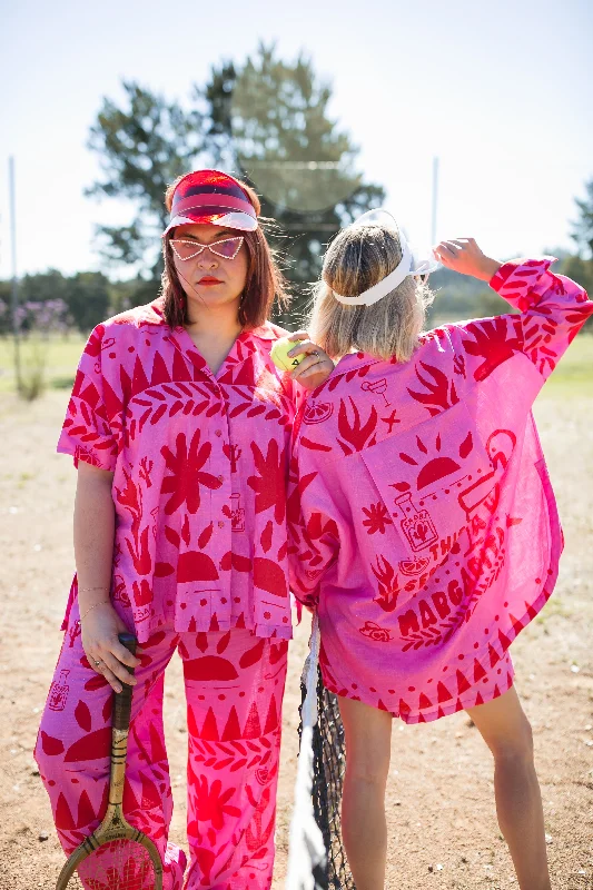
[[385, 785], [389, 772], [392, 715], [339, 699], [346, 736], [342, 832], [356, 890], [384, 890], [387, 859]]

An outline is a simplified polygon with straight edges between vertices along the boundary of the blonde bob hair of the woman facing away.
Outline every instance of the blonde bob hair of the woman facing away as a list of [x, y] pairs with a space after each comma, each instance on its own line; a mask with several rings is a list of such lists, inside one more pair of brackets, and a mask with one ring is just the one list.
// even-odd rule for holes
[[395, 269], [402, 259], [395, 228], [354, 224], [343, 229], [324, 257], [314, 287], [309, 332], [332, 358], [362, 352], [407, 362], [418, 345], [426, 308], [434, 299], [421, 276], [408, 275], [373, 306], [347, 306], [333, 295], [359, 296]]

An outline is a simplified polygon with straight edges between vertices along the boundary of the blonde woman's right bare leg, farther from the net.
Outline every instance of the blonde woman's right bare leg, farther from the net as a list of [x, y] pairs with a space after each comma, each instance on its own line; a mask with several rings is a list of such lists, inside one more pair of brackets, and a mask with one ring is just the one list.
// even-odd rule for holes
[[533, 762], [531, 724], [515, 690], [467, 713], [494, 755], [501, 831], [521, 890], [550, 890], [542, 795]]

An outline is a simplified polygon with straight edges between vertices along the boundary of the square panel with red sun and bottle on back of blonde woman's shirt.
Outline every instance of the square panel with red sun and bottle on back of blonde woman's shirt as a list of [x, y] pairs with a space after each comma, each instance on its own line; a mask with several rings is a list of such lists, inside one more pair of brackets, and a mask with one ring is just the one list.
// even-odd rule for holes
[[470, 412], [457, 404], [362, 452], [394, 531], [412, 557], [458, 536], [496, 487]]

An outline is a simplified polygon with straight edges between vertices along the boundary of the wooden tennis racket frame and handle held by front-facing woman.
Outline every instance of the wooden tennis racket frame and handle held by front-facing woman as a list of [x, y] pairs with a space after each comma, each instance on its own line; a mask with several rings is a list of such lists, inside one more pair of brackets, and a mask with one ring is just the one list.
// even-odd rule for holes
[[[132, 634], [120, 633], [119, 642], [132, 653], [138, 641]], [[130, 673], [134, 669], [128, 668]], [[147, 835], [126, 820], [121, 802], [123, 799], [123, 780], [126, 778], [126, 754], [128, 752], [128, 732], [131, 716], [132, 688], [122, 683], [121, 692], [113, 692], [113, 722], [111, 729], [111, 767], [109, 774], [109, 803], [99, 828], [89, 834], [65, 863], [56, 890], [67, 890], [68, 881], [78, 866], [90, 853], [105, 843], [116, 840], [130, 840], [140, 843], [150, 857], [155, 869], [154, 890], [162, 890], [162, 862], [157, 848]]]

